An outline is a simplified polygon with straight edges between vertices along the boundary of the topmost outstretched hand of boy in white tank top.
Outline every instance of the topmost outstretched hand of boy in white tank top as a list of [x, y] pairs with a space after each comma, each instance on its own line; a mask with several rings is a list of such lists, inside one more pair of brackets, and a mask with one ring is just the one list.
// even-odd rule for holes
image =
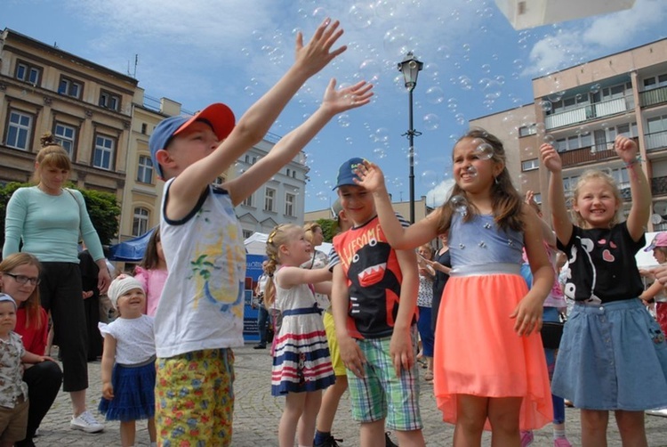
[[331, 50], [336, 40], [342, 36], [342, 29], [338, 27], [341, 22], [326, 18], [317, 27], [315, 34], [310, 39], [308, 45], [303, 46], [303, 33], [299, 31], [296, 35], [296, 57], [294, 66], [304, 70], [308, 76], [312, 76], [320, 69], [325, 68], [326, 64], [336, 56], [347, 50], [347, 46], [342, 45], [335, 50]]

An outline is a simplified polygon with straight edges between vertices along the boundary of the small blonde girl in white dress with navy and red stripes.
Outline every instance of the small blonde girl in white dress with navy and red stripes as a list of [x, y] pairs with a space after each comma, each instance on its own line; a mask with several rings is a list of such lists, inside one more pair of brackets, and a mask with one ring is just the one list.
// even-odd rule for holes
[[315, 292], [331, 293], [331, 272], [300, 268], [312, 256], [313, 248], [299, 226], [278, 225], [269, 234], [266, 250], [269, 280], [265, 305], [271, 305], [271, 297], [275, 297], [283, 315], [271, 375], [271, 394], [285, 395], [278, 440], [281, 447], [292, 447], [297, 435], [299, 445], [312, 445], [322, 390], [335, 380], [322, 311], [315, 300]]

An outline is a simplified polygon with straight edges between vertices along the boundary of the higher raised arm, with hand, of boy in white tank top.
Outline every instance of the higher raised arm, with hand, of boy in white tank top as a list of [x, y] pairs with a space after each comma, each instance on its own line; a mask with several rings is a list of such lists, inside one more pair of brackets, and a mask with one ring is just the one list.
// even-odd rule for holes
[[[342, 36], [339, 22], [326, 19], [308, 45], [303, 45], [301, 32], [296, 38], [296, 61], [285, 75], [245, 112], [226, 140], [211, 155], [187, 167], [170, 187], [168, 215], [177, 219], [189, 213], [206, 185], [237, 161], [241, 155], [260, 142], [285, 105], [309, 77], [346, 50], [332, 50]], [[184, 212], [183, 212], [184, 211]]]

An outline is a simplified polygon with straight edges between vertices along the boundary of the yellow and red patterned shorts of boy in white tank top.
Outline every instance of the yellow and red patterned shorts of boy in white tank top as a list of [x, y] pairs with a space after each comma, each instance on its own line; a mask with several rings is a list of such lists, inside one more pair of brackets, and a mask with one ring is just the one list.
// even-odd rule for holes
[[233, 383], [229, 348], [157, 359], [157, 445], [231, 445]]

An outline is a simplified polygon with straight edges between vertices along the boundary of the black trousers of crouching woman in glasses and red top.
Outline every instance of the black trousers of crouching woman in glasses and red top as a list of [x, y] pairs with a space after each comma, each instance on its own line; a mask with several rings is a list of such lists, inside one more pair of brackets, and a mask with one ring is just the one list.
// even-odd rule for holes
[[23, 381], [28, 384], [28, 430], [26, 439], [15, 443], [16, 447], [32, 445], [39, 424], [55, 401], [62, 383], [62, 371], [58, 363], [50, 360], [36, 363], [23, 372]]

